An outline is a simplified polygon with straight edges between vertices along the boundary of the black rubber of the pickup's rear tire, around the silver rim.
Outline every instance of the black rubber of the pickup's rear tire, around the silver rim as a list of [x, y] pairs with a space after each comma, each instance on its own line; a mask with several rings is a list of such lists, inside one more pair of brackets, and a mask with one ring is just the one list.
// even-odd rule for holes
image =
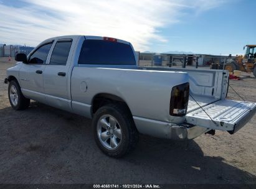
[[[100, 118], [105, 115], [113, 116], [121, 127], [121, 141], [116, 149], [108, 149], [105, 147], [101, 142], [100, 136], [98, 136], [97, 125], [98, 122], [100, 122]], [[93, 116], [92, 126], [98, 147], [104, 154], [107, 154], [110, 157], [120, 158], [135, 149], [135, 146], [138, 143], [139, 134], [135, 127], [133, 117], [128, 108], [123, 104], [107, 104], [99, 108]], [[111, 134], [111, 136], [113, 137], [113, 134]]]

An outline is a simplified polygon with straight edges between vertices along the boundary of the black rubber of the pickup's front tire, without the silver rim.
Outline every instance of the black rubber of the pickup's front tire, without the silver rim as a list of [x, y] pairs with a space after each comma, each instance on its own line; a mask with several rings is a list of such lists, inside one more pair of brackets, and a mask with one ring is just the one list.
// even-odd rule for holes
[[[13, 103], [13, 101], [11, 100], [11, 88], [12, 86], [14, 86], [16, 88], [17, 91], [17, 103]], [[21, 93], [21, 87], [19, 86], [19, 83], [17, 82], [17, 80], [11, 80], [8, 86], [8, 97], [9, 97], [9, 102], [12, 106], [13, 109], [15, 110], [21, 110], [21, 109], [26, 109], [29, 107], [30, 104], [30, 99], [26, 98], [25, 96], [23, 96], [23, 94]]]

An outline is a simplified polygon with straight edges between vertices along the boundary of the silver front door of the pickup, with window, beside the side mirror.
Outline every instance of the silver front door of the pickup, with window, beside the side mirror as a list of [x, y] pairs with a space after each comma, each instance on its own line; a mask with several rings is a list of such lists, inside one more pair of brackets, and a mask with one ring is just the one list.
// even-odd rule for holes
[[44, 69], [52, 41], [40, 45], [28, 58], [28, 63], [22, 63], [19, 70], [21, 90], [24, 96], [44, 103]]

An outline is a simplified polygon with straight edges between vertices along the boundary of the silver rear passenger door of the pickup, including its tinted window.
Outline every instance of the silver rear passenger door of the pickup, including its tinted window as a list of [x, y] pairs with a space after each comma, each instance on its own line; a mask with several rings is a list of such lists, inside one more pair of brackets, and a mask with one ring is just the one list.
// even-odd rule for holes
[[70, 110], [69, 67], [72, 58], [72, 39], [59, 39], [55, 42], [49, 64], [44, 70], [45, 103], [56, 108]]

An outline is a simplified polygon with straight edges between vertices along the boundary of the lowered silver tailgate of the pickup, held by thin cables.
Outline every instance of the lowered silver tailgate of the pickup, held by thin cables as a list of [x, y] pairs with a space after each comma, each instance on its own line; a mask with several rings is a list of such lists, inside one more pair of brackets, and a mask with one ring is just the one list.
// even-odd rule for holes
[[209, 104], [203, 109], [211, 118], [199, 108], [186, 114], [186, 122], [234, 134], [254, 116], [256, 103], [224, 99]]

